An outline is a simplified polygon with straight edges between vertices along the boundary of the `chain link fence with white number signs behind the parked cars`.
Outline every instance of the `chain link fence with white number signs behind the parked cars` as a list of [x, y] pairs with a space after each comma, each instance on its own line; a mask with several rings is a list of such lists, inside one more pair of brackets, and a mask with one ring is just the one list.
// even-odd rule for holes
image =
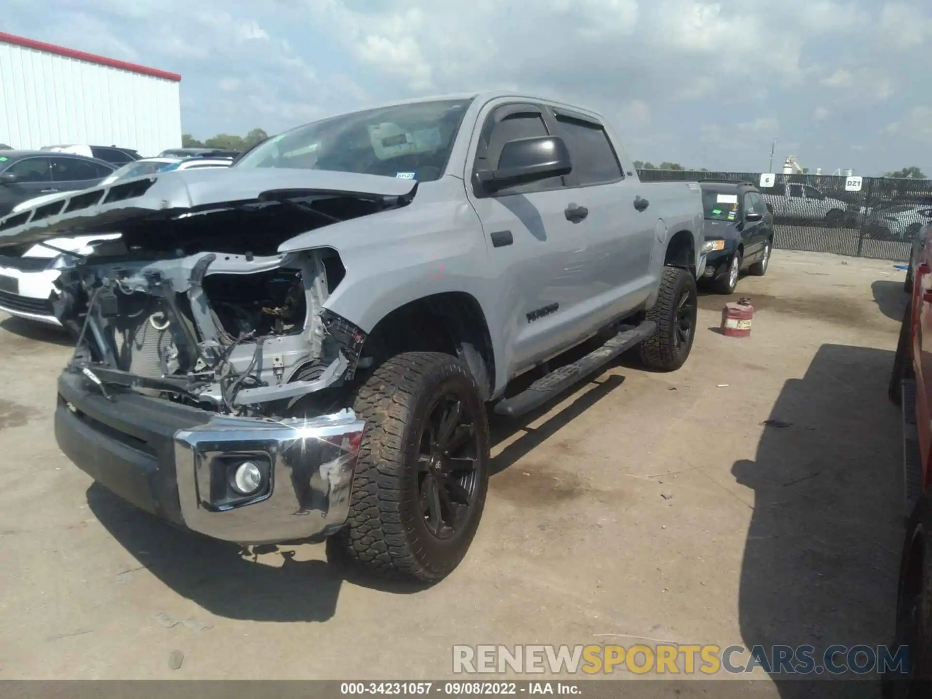
[[[638, 170], [644, 182], [717, 180], [760, 188], [774, 214], [774, 247], [905, 262], [911, 240], [932, 223], [932, 180], [776, 174], [761, 172]], [[853, 191], [860, 181], [860, 189]], [[846, 184], [848, 185], [846, 187]]]

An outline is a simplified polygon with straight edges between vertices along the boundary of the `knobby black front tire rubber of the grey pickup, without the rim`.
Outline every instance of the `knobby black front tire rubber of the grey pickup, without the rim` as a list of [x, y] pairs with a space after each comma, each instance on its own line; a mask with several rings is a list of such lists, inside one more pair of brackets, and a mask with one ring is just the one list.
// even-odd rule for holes
[[[427, 411], [437, 396], [450, 391], [474, 411], [480, 472], [466, 524], [451, 539], [441, 540], [426, 528], [418, 504], [417, 453]], [[365, 420], [365, 430], [349, 518], [328, 543], [336, 545], [348, 562], [379, 577], [419, 583], [441, 580], [466, 555], [488, 489], [488, 418], [473, 375], [449, 354], [399, 354], [365, 378], [353, 410]]]

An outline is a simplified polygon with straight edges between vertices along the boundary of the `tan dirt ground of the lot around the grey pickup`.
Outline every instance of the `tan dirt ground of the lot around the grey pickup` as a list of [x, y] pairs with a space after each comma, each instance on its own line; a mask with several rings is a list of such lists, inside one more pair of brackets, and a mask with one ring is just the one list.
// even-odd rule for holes
[[449, 678], [453, 644], [886, 643], [902, 281], [890, 262], [776, 251], [738, 285], [750, 338], [717, 333], [727, 299], [704, 295], [680, 371], [619, 364], [496, 421], [473, 548], [422, 591], [322, 545], [186, 535], [93, 486], [52, 434], [68, 343], [6, 318], [0, 678]]

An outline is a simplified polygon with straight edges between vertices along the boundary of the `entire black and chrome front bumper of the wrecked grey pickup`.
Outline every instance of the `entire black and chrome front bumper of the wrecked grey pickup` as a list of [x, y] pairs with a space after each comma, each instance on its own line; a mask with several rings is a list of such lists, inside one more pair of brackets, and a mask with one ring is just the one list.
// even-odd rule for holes
[[[113, 398], [63, 373], [55, 437], [79, 469], [123, 500], [243, 544], [326, 536], [346, 523], [364, 426], [351, 410], [271, 421], [130, 391]], [[230, 470], [246, 460], [262, 467], [263, 486], [231, 499]]]

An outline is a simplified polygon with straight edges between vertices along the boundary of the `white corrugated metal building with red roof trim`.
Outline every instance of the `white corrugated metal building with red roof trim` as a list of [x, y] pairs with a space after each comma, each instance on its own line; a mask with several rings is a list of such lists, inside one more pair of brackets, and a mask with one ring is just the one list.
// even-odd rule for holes
[[0, 33], [0, 144], [181, 147], [181, 75]]

